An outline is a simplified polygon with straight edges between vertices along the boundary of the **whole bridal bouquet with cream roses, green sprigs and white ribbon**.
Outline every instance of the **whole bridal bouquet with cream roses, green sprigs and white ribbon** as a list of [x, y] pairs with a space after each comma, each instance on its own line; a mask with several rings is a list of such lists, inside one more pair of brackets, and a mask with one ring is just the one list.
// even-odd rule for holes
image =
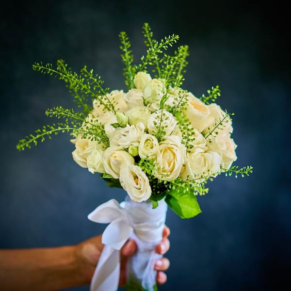
[[[102, 237], [106, 245], [92, 279], [91, 290], [116, 290], [119, 250], [134, 238], [138, 252], [129, 264], [128, 290], [155, 290], [155, 245], [162, 238], [167, 206], [181, 218], [201, 212], [197, 196], [208, 193], [208, 181], [224, 173], [248, 176], [252, 167], [232, 165], [236, 144], [231, 138], [232, 115], [214, 103], [219, 86], [195, 97], [182, 89], [188, 46], [166, 53], [178, 41], [173, 34], [160, 42], [143, 26], [146, 55], [133, 65], [129, 38], [119, 34], [128, 90], [110, 91], [92, 69], [77, 74], [63, 61], [36, 63], [33, 70], [65, 82], [81, 111], [57, 106], [46, 111], [63, 119], [37, 129], [20, 140], [17, 149], [30, 148], [59, 132], [70, 132], [72, 156], [92, 174], [101, 173], [109, 187], [122, 187], [125, 202], [112, 199], [89, 214], [110, 223]], [[150, 67], [150, 69], [149, 69]], [[149, 74], [151, 72], [151, 74]]]

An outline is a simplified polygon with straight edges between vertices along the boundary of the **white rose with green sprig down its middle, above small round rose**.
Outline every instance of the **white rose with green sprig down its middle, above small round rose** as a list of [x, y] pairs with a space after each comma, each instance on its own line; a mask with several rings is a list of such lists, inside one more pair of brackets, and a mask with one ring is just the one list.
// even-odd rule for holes
[[165, 131], [165, 135], [170, 135], [176, 127], [177, 120], [172, 113], [169, 113], [166, 110], [162, 111], [160, 109], [150, 115], [147, 121], [147, 130], [150, 134], [155, 134], [158, 132], [158, 129], [160, 128], [161, 114], [161, 129]]

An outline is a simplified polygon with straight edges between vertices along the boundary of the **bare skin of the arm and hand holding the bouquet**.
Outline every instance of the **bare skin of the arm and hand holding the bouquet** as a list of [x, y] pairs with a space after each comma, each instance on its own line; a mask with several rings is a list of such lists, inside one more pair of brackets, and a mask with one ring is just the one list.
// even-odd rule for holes
[[[165, 254], [170, 242], [170, 230], [165, 226], [163, 239], [156, 246], [158, 254]], [[55, 248], [34, 248], [23, 250], [0, 250], [0, 290], [42, 291], [62, 290], [88, 285], [94, 274], [104, 245], [101, 235], [77, 245]], [[119, 286], [126, 283], [126, 266], [129, 257], [136, 251], [136, 243], [128, 241], [121, 249]], [[166, 258], [155, 262], [157, 284], [167, 280], [163, 272], [169, 268]]]

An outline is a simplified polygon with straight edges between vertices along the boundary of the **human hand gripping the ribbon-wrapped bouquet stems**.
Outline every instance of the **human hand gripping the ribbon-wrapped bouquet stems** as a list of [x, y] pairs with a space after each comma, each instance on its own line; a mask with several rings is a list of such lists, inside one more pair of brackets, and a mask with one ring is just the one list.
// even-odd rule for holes
[[[170, 235], [170, 229], [165, 226], [162, 233], [162, 241], [156, 246], [156, 253], [165, 254], [170, 247], [170, 242], [168, 236]], [[98, 235], [89, 240], [81, 242], [75, 246], [75, 257], [77, 261], [77, 268], [79, 274], [82, 277], [83, 284], [89, 284], [91, 282], [92, 276], [96, 269], [98, 260], [100, 258], [104, 244], [101, 242], [102, 235]], [[120, 278], [119, 286], [124, 286], [126, 284], [126, 266], [129, 257], [136, 252], [136, 243], [133, 240], [126, 242], [122, 247], [121, 263], [120, 263]], [[169, 268], [170, 262], [167, 258], [157, 259], [155, 262], [155, 270], [157, 270], [157, 284], [164, 284], [167, 280], [166, 274], [163, 272]]]

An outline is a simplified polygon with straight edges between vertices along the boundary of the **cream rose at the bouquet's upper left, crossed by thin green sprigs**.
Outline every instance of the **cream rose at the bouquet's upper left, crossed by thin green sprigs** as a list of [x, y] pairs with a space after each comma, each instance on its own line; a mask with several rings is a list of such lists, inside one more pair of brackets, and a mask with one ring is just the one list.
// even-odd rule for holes
[[[128, 105], [126, 100], [124, 99], [125, 93], [123, 92], [123, 90], [113, 90], [108, 93], [106, 97], [113, 104], [116, 111], [122, 112], [128, 110]], [[108, 102], [106, 98], [104, 102]], [[100, 121], [100, 117], [106, 112], [107, 111], [105, 110], [104, 105], [101, 104], [99, 100], [96, 99], [93, 101], [92, 114], [94, 115], [94, 117], [97, 117]]]

